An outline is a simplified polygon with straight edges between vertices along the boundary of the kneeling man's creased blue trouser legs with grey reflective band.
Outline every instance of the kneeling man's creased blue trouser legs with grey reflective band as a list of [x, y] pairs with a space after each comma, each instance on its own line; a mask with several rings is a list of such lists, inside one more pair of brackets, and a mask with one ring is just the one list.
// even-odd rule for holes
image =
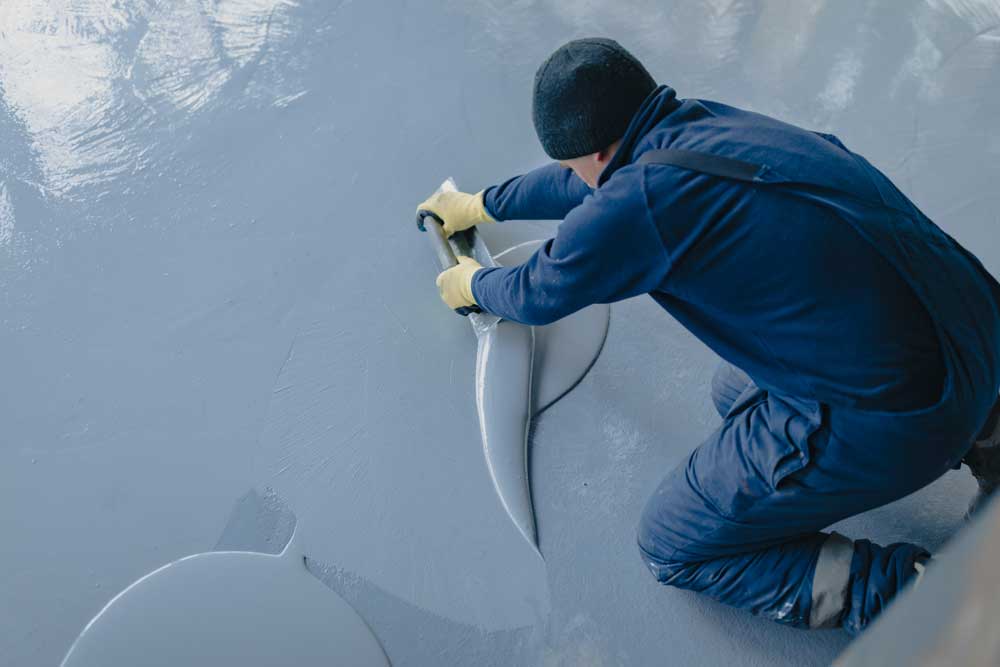
[[[862, 470], [830, 433], [821, 406], [761, 390], [729, 364], [713, 378], [712, 394], [722, 425], [643, 511], [646, 564], [664, 584], [783, 623], [859, 632], [928, 554], [819, 531], [927, 479], [901, 483], [891, 461], [866, 461]], [[880, 475], [885, 483], [872, 484]]]

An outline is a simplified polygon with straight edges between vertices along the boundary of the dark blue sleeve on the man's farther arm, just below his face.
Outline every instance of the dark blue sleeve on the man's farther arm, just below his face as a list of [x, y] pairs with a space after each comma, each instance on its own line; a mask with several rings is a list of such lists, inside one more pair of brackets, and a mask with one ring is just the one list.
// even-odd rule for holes
[[494, 220], [562, 220], [592, 192], [572, 170], [552, 162], [483, 194]]

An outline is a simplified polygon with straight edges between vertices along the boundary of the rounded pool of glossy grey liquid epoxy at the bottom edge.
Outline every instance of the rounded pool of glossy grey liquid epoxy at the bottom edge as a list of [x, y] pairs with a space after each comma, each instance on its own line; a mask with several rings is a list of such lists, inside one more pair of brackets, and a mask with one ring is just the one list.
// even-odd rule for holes
[[116, 596], [62, 667], [241, 665], [389, 667], [364, 621], [306, 570], [293, 539], [279, 555], [182, 558]]

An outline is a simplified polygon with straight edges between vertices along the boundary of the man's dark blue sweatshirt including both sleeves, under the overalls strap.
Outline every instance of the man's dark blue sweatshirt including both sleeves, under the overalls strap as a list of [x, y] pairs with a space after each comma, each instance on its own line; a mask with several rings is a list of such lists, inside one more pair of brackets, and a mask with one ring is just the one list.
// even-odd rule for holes
[[[637, 163], [663, 148], [765, 164], [775, 182]], [[565, 220], [524, 266], [480, 271], [479, 303], [540, 324], [648, 292], [762, 387], [894, 411], [939, 398], [945, 370], [933, 322], [852, 224], [878, 224], [889, 209], [836, 138], [678, 100], [661, 86], [636, 112], [598, 186], [575, 187], [564, 170], [543, 168], [488, 190], [498, 219]], [[897, 192], [887, 179], [886, 188]]]

